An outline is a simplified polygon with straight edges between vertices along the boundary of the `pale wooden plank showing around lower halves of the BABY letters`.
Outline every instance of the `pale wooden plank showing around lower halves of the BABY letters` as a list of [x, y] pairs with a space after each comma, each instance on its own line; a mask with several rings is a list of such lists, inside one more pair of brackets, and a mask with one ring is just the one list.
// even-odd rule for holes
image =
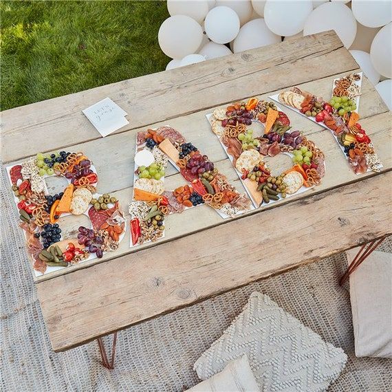
[[[386, 112], [381, 113], [378, 116], [373, 116], [371, 118], [366, 118], [362, 120], [362, 126], [364, 127], [364, 129], [369, 129], [369, 135], [371, 136], [371, 139], [373, 140], [373, 143], [375, 145], [375, 149], [378, 151], [378, 154], [384, 164], [383, 172], [388, 171], [392, 168], [392, 149], [390, 143], [390, 135], [392, 132], [391, 119], [391, 112]], [[307, 122], [312, 124], [312, 122], [310, 121]], [[316, 127], [318, 127], [317, 124]], [[305, 135], [308, 135], [307, 132], [305, 132]], [[316, 144], [320, 146], [320, 149], [322, 149], [325, 153], [326, 173], [325, 177], [323, 178], [322, 184], [320, 186], [312, 188], [312, 190], [309, 190], [309, 192], [307, 193], [302, 193], [301, 195], [296, 195], [294, 197], [283, 199], [279, 203], [273, 204], [273, 207], [283, 206], [283, 204], [290, 203], [294, 199], [302, 199], [305, 197], [309, 197], [310, 195], [314, 195], [315, 193], [323, 193], [326, 190], [336, 188], [337, 186], [341, 186], [342, 184], [361, 182], [361, 180], [365, 177], [374, 175], [374, 173], [365, 173], [364, 175], [359, 176], [354, 174], [353, 171], [351, 171], [349, 164], [347, 164], [345, 156], [340, 151], [331, 133], [327, 130], [312, 132], [312, 140], [314, 140], [314, 142], [316, 142]], [[215, 136], [213, 136], [213, 138], [215, 138]], [[219, 145], [216, 138], [215, 140], [211, 140], [210, 143], [218, 144], [219, 149], [221, 149], [221, 146]], [[210, 156], [212, 157], [214, 155]], [[223, 159], [215, 161], [215, 163], [217, 164], [219, 171], [226, 174], [228, 176], [228, 179], [230, 179], [230, 182], [232, 182], [232, 184], [234, 184], [240, 192], [245, 192], [241, 182], [238, 179], [237, 173], [235, 173], [235, 170], [234, 168], [232, 168], [232, 165], [230, 161], [226, 158], [226, 155], [224, 155]], [[278, 155], [270, 161], [270, 166], [279, 173], [290, 167], [290, 164], [290, 158], [283, 157], [283, 155]], [[132, 169], [131, 171], [129, 171], [129, 175], [132, 176]], [[184, 184], [184, 179], [179, 174], [168, 175], [165, 178], [166, 189], [174, 189], [177, 186]], [[108, 188], [107, 190], [105, 189], [102, 192], [111, 192], [111, 189]], [[113, 195], [115, 195], [120, 200], [120, 203], [124, 207], [127, 219], [129, 219], [129, 215], [127, 213], [127, 205], [129, 200], [131, 199], [132, 192], [132, 188], [128, 187], [119, 190], [116, 193], [113, 193]], [[261, 206], [261, 208], [259, 208], [259, 210], [267, 210], [270, 208], [272, 207], [269, 205], [263, 205]], [[162, 243], [163, 241], [171, 241], [175, 238], [188, 235], [192, 232], [197, 232], [198, 230], [203, 230], [204, 228], [209, 228], [220, 224], [226, 224], [228, 221], [230, 221], [230, 219], [226, 219], [226, 221], [224, 221], [223, 219], [221, 219], [221, 217], [219, 217], [219, 215], [217, 215], [217, 213], [215, 213], [215, 211], [208, 208], [208, 206], [199, 206], [197, 208], [188, 210], [183, 214], [171, 215], [166, 218], [165, 238], [158, 241], [158, 244]], [[84, 216], [65, 217], [60, 219], [60, 224], [65, 237], [76, 237], [78, 226], [87, 224], [87, 218]], [[107, 253], [102, 259], [86, 261], [84, 263], [72, 265], [69, 268], [59, 270], [57, 272], [52, 272], [51, 274], [39, 276], [38, 278], [36, 278], [36, 281], [38, 282], [46, 279], [53, 279], [61, 274], [68, 274], [70, 272], [74, 272], [75, 270], [87, 268], [90, 265], [102, 263], [102, 261], [107, 261], [115, 257], [120, 257], [130, 252], [137, 252], [142, 248], [149, 248], [153, 245], [153, 243], [146, 243], [138, 248], [130, 249], [129, 230], [127, 230], [125, 238], [122, 243], [120, 243], [120, 247], [118, 248], [118, 250], [116, 250], [116, 252]]]

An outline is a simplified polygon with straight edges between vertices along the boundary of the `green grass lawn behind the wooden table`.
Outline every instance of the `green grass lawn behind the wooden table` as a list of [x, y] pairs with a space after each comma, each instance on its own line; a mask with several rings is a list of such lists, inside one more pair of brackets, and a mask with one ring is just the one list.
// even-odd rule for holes
[[162, 71], [166, 1], [1, 1], [1, 110]]

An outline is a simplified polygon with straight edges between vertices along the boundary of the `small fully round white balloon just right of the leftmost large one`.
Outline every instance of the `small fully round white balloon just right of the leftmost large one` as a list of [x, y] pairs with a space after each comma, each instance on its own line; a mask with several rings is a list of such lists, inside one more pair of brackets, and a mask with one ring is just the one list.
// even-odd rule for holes
[[239, 17], [231, 8], [219, 6], [208, 12], [204, 25], [211, 41], [228, 43], [239, 32]]

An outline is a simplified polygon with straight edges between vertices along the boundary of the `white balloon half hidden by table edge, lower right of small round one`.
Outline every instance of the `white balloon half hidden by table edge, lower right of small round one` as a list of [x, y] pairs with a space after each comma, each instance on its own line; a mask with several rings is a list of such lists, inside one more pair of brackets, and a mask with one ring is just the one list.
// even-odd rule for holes
[[281, 41], [281, 36], [268, 30], [264, 19], [259, 18], [254, 19], [241, 27], [232, 48], [233, 52], [237, 53]]

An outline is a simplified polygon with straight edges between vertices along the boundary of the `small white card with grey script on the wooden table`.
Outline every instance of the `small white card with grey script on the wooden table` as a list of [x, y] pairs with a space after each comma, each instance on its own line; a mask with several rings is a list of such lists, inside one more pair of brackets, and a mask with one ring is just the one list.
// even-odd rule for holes
[[83, 110], [83, 114], [104, 138], [109, 133], [129, 124], [129, 121], [124, 117], [127, 116], [127, 112], [110, 98], [105, 98], [87, 107], [87, 109]]

